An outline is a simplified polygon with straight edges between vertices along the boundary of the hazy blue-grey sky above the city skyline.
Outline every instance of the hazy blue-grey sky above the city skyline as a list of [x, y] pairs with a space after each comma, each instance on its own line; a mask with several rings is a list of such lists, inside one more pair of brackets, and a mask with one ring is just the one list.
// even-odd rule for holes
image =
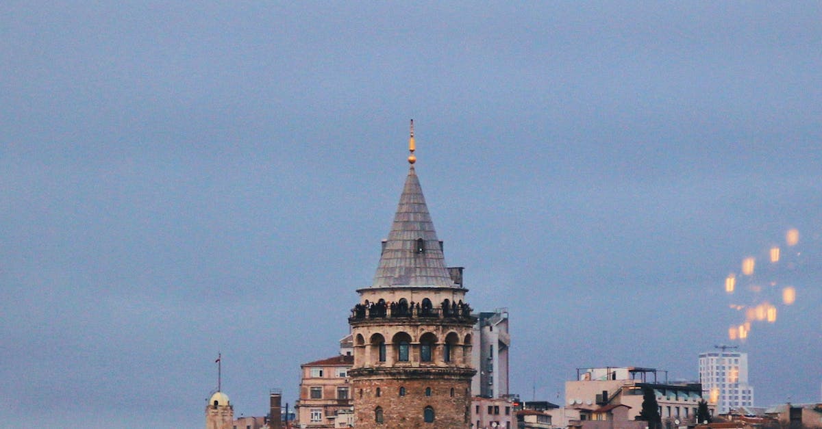
[[[474, 308], [510, 311], [514, 392], [561, 403], [588, 366], [695, 380], [725, 343], [749, 353], [755, 404], [822, 400], [820, 17], [5, 2], [4, 424], [202, 427], [218, 351], [236, 415], [273, 387], [293, 404], [371, 284], [409, 118], [446, 262]], [[777, 321], [730, 340], [729, 306], [761, 302]]]

